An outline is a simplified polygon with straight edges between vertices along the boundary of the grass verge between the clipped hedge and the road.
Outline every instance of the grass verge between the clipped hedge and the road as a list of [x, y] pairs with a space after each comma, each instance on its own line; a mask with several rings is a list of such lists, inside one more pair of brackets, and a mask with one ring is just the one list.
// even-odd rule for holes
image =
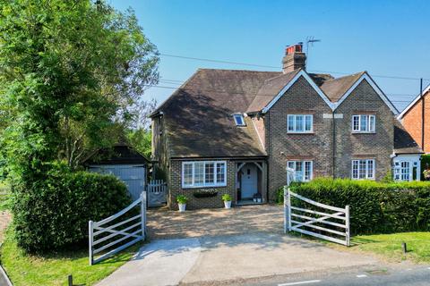
[[[401, 243], [406, 242], [408, 253], [403, 254]], [[352, 238], [352, 248], [373, 252], [390, 260], [411, 260], [430, 263], [430, 232], [402, 232], [361, 235]]]

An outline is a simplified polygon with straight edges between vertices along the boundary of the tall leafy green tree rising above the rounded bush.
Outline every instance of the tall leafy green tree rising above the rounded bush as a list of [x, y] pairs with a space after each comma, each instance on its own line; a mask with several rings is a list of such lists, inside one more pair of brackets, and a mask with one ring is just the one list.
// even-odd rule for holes
[[104, 1], [0, 0], [0, 140], [15, 178], [76, 168], [129, 127], [158, 51]]

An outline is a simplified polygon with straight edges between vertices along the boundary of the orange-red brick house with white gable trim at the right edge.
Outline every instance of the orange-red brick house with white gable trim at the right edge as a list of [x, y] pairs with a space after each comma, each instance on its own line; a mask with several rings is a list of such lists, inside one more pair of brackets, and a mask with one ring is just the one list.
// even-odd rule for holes
[[410, 136], [430, 153], [430, 86], [424, 89], [402, 112], [399, 120]]

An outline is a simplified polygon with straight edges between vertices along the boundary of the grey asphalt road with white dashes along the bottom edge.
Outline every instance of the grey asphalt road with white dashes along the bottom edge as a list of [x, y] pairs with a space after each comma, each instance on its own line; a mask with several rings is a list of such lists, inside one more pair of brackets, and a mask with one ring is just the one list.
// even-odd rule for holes
[[250, 286], [429, 286], [430, 267], [350, 269], [330, 273], [297, 273], [271, 276], [254, 281], [231, 282], [229, 285]]

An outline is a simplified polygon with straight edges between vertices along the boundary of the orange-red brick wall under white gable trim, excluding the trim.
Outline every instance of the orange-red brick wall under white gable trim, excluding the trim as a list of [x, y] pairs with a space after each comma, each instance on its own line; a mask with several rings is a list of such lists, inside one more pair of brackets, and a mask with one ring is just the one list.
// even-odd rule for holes
[[401, 122], [410, 136], [417, 144], [424, 149], [424, 152], [430, 153], [430, 97], [427, 97], [429, 92], [424, 97], [424, 106], [426, 108], [424, 122], [424, 147], [422, 147], [422, 100], [418, 100], [417, 104], [413, 105], [408, 113], [406, 113]]

